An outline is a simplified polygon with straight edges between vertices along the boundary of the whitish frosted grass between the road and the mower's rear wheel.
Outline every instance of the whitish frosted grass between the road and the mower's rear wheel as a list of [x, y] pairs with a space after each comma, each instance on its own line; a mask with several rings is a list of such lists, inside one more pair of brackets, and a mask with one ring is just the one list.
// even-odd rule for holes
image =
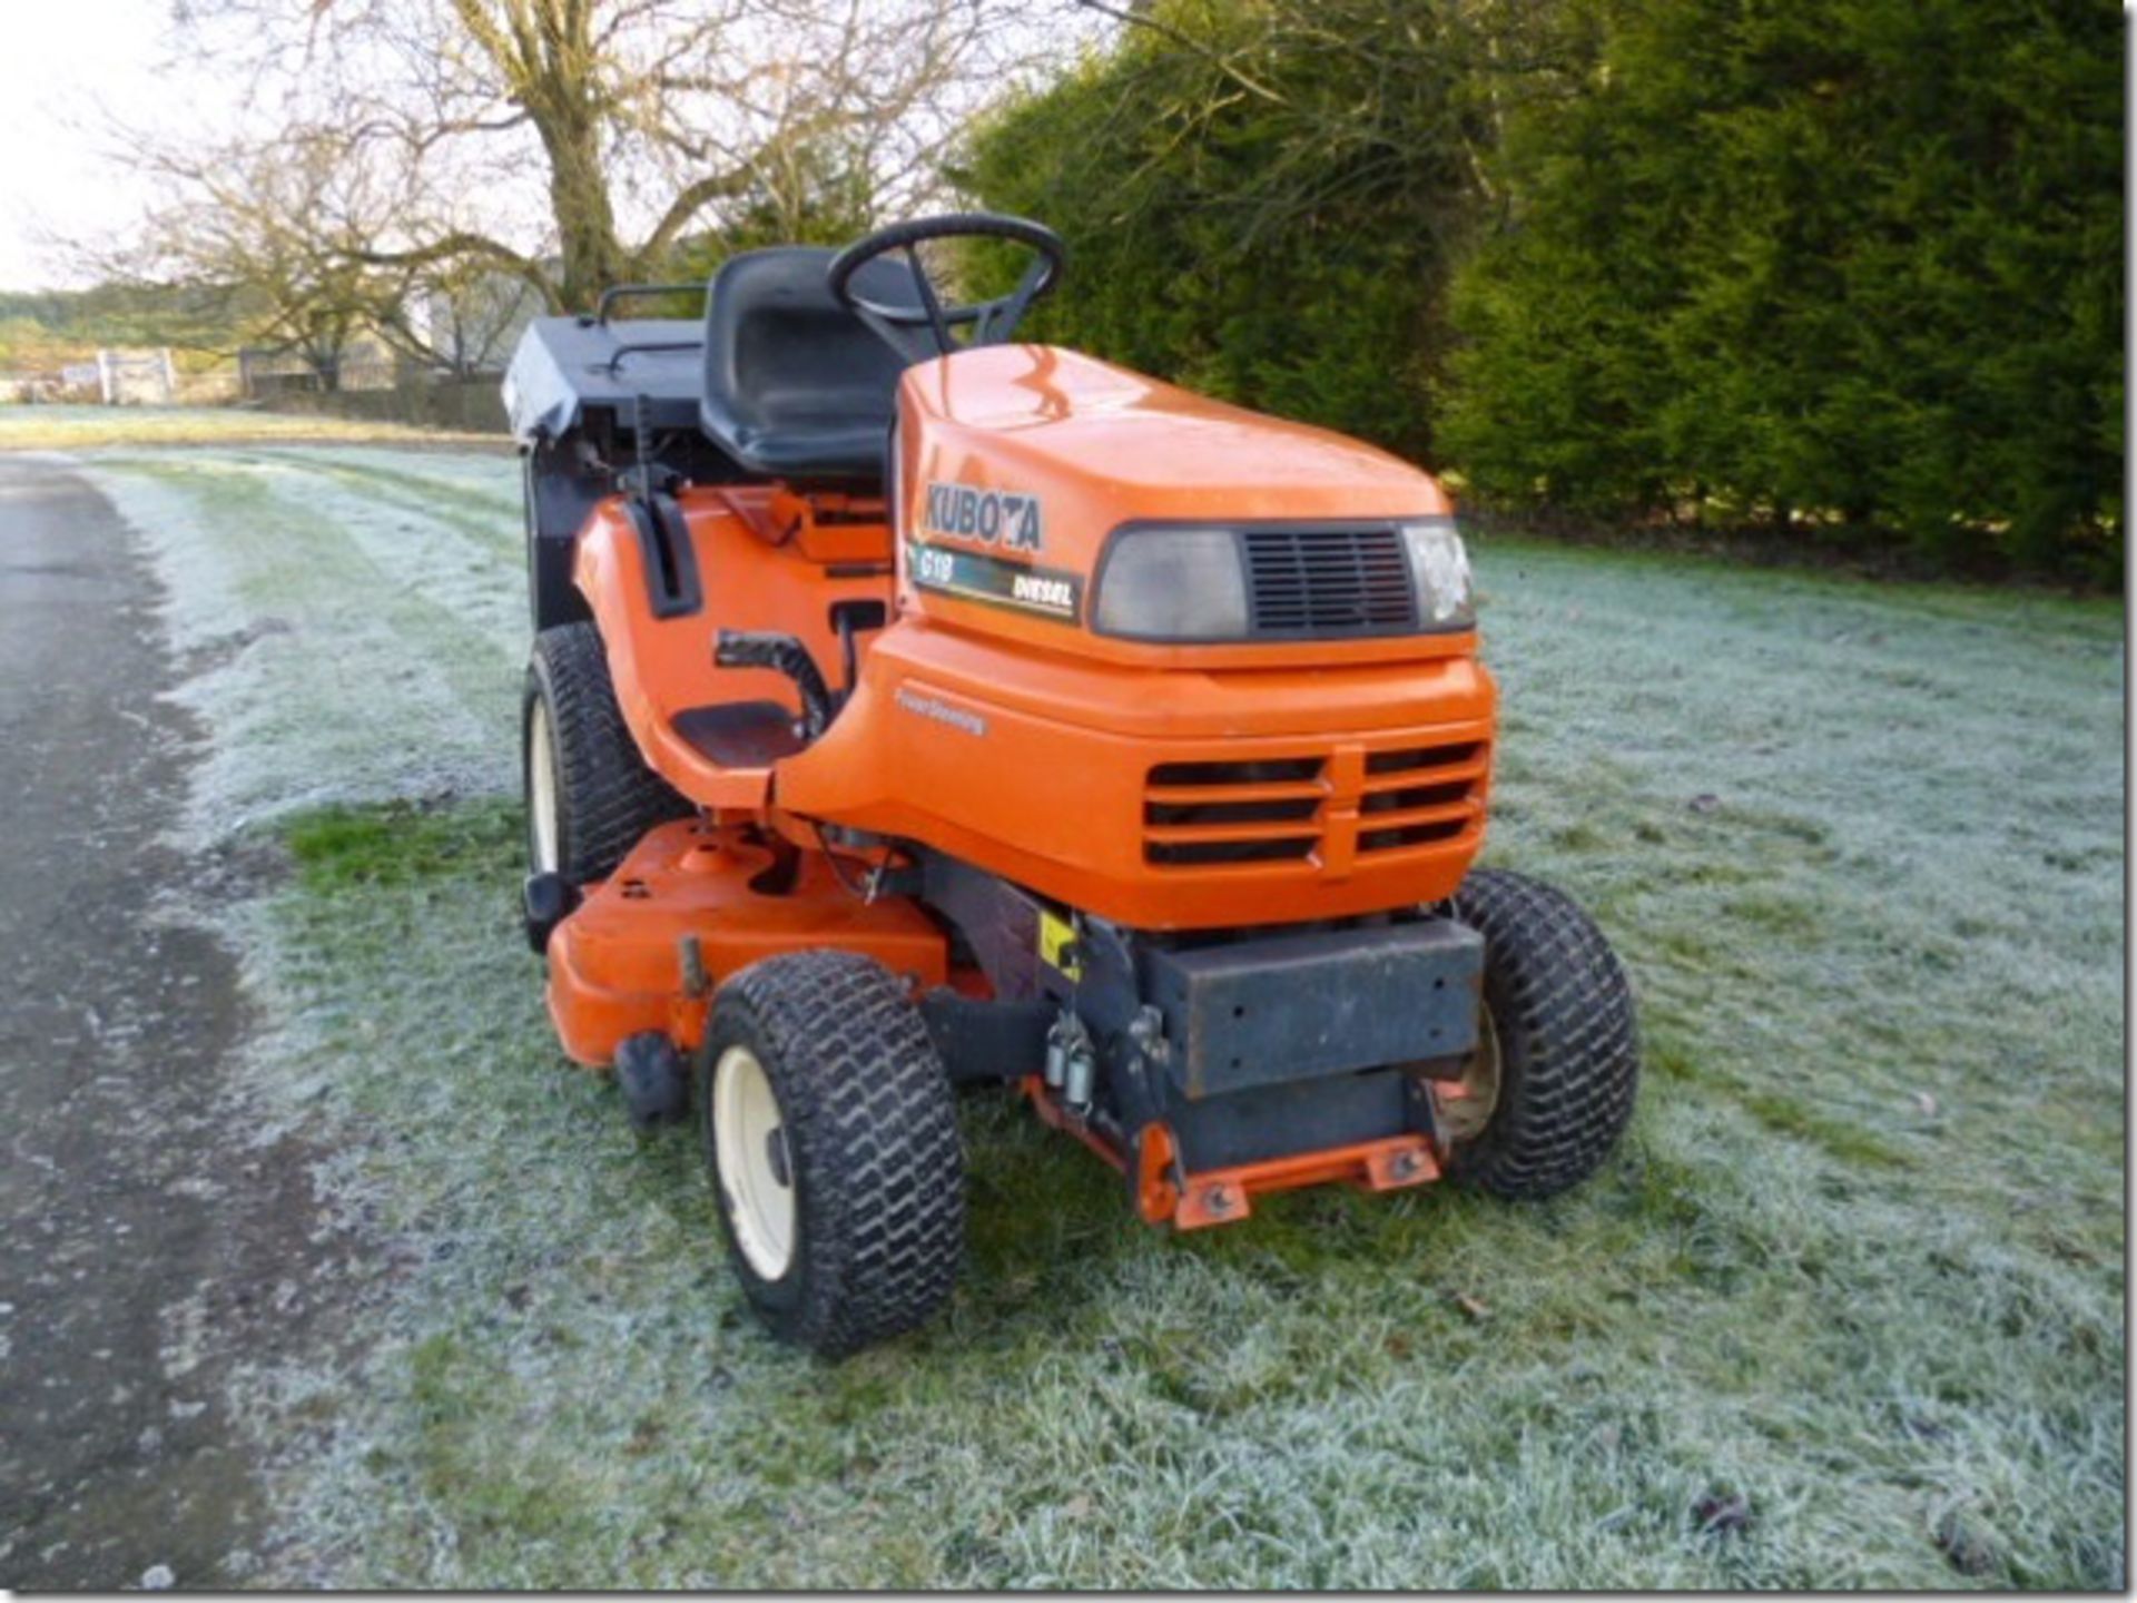
[[[346, 462], [333, 460], [346, 457]], [[139, 532], [212, 733], [192, 844], [340, 799], [513, 782], [526, 650], [513, 464], [128, 453], [88, 464]], [[400, 472], [380, 487], [368, 474]]]

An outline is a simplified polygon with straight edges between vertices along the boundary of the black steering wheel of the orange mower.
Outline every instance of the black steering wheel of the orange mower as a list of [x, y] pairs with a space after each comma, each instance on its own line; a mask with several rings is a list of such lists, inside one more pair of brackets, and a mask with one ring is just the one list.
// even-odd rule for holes
[[[921, 265], [917, 246], [927, 239], [955, 237], [1013, 239], [1030, 248], [1032, 265], [1024, 269], [1024, 278], [1007, 295], [996, 295], [992, 301], [972, 301], [970, 306], [945, 306], [942, 297], [936, 295], [934, 282], [927, 278], [927, 269]], [[885, 293], [883, 289], [870, 295], [857, 282], [863, 267], [889, 256], [893, 250], [902, 250], [906, 256], [917, 304], [878, 299]], [[855, 239], [831, 259], [827, 282], [840, 306], [880, 333], [893, 351], [912, 361], [927, 361], [930, 357], [947, 357], [951, 351], [968, 351], [979, 344], [1007, 344], [1032, 301], [1060, 282], [1066, 261], [1068, 248], [1054, 229], [998, 212], [949, 212], [938, 218], [893, 222], [889, 229], [878, 229], [863, 239]], [[870, 289], [887, 286], [887, 274], [870, 274], [870, 278], [874, 280]], [[970, 327], [972, 331], [964, 344], [951, 333], [951, 329], [960, 327]], [[921, 329], [934, 336], [934, 348], [923, 342]]]

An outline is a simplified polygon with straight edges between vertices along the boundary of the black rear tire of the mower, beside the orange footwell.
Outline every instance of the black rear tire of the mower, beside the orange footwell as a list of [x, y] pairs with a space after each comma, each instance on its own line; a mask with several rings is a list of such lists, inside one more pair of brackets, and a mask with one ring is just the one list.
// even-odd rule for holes
[[654, 774], [630, 740], [609, 654], [594, 624], [534, 637], [519, 703], [519, 778], [528, 802], [528, 863], [543, 870], [534, 827], [534, 710], [547, 712], [556, 774], [556, 872], [573, 885], [607, 878], [648, 829], [692, 806]]

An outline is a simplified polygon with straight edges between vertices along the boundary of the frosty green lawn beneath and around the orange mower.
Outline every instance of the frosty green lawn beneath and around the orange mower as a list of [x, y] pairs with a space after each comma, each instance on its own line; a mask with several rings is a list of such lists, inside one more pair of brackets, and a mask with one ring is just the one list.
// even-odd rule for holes
[[[124, 472], [173, 528], [233, 481], [263, 541], [333, 507], [293, 556], [333, 605], [282, 605], [340, 663], [412, 660], [376, 703], [340, 663], [212, 686], [218, 742], [265, 746], [212, 789], [308, 797], [284, 692], [350, 795], [509, 782], [515, 620], [430, 605], [479, 588], [498, 464]], [[323, 594], [241, 528], [165, 558], [194, 643]], [[248, 1381], [271, 1579], [2120, 1586], [2120, 613], [1526, 545], [1479, 573], [1492, 857], [1590, 904], [1641, 998], [1622, 1154], [1543, 1208], [1308, 1193], [1167, 1240], [970, 1101], [964, 1289], [836, 1368], [746, 1319], [692, 1135], [637, 1143], [562, 1062], [509, 799], [299, 836], [244, 923], [254, 1090], [374, 1255], [348, 1357]]]

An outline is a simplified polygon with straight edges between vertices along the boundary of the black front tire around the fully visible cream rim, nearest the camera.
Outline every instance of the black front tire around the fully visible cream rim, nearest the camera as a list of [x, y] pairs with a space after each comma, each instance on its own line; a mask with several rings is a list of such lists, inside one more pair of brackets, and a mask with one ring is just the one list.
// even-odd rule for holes
[[[714, 1075], [748, 1047], [771, 1081], [795, 1186], [795, 1246], [765, 1278], [720, 1178]], [[821, 1357], [912, 1329], [957, 1282], [964, 1152], [949, 1075], [919, 1009], [846, 951], [765, 958], [722, 990], [699, 1058], [699, 1114], [729, 1261], [759, 1319]]]

